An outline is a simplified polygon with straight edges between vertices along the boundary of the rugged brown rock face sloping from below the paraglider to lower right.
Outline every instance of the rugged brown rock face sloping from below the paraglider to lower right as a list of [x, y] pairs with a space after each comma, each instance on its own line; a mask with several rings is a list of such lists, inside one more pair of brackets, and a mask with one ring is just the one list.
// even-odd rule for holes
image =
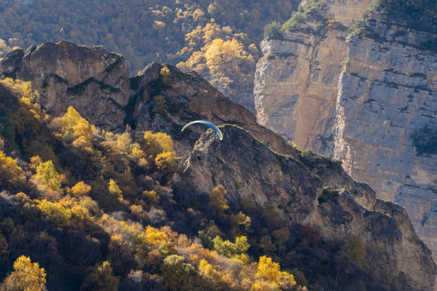
[[[302, 163], [275, 154], [240, 127], [225, 125], [222, 131], [223, 141], [205, 133], [183, 157], [178, 184], [187, 195], [207, 195], [222, 184], [234, 207], [250, 197], [259, 207], [273, 206], [285, 225], [314, 227], [323, 240], [359, 236], [370, 269], [396, 270], [394, 281], [405, 274], [404, 290], [434, 288], [431, 253], [402, 207], [377, 200], [372, 189], [354, 182], [335, 161], [300, 153]], [[324, 186], [338, 189], [337, 196], [323, 200]]]

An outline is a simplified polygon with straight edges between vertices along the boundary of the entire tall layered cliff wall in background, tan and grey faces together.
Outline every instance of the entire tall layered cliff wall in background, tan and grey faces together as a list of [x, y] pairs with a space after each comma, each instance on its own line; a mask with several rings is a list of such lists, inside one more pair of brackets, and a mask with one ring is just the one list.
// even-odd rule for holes
[[426, 33], [388, 24], [377, 12], [372, 37], [346, 38], [344, 28], [324, 22], [348, 26], [345, 13], [333, 11], [322, 9], [305, 24], [318, 33], [293, 30], [263, 42], [257, 119], [298, 148], [340, 159], [378, 197], [404, 206], [436, 254], [437, 159], [418, 155], [417, 139], [436, 128], [437, 55], [418, 49]]

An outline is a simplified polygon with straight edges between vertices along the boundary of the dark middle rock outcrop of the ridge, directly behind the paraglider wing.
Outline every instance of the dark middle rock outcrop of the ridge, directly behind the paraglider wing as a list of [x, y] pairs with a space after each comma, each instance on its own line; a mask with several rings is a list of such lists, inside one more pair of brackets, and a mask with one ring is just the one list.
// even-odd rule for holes
[[[183, 125], [204, 119], [216, 125], [239, 125], [262, 143], [282, 155], [298, 159], [295, 149], [271, 130], [259, 125], [255, 116], [230, 98], [223, 96], [198, 73], [182, 73], [169, 64], [150, 64], [139, 76], [131, 79], [130, 125], [138, 132], [162, 131], [175, 140], [178, 155], [185, 155], [205, 131], [205, 127], [190, 127], [180, 133]], [[158, 101], [157, 96], [162, 96]], [[157, 107], [161, 102], [162, 107]]]

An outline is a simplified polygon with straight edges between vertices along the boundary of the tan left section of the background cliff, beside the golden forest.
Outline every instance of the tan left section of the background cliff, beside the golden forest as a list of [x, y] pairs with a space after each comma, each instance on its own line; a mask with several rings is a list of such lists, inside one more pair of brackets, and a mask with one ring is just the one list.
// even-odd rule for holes
[[299, 29], [262, 42], [264, 58], [257, 64], [254, 89], [259, 124], [298, 148], [316, 150], [327, 148], [330, 133], [325, 129], [334, 123], [347, 26], [370, 0], [323, 3]]

